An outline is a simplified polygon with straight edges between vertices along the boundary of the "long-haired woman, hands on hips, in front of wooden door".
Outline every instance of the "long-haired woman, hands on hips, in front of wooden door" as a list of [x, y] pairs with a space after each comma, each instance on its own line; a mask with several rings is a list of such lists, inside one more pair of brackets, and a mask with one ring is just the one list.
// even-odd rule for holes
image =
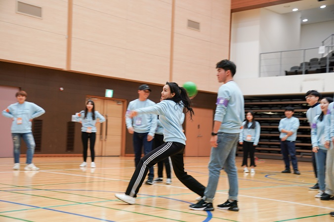
[[106, 119], [98, 111], [95, 111], [94, 102], [88, 100], [86, 103], [85, 111], [76, 113], [75, 117], [77, 122], [80, 122], [83, 126], [81, 127], [81, 139], [83, 141], [83, 163], [80, 167], [87, 166], [87, 149], [88, 149], [88, 138], [90, 143], [90, 156], [91, 163], [90, 167], [95, 168], [95, 139], [96, 139], [96, 123], [104, 122]]

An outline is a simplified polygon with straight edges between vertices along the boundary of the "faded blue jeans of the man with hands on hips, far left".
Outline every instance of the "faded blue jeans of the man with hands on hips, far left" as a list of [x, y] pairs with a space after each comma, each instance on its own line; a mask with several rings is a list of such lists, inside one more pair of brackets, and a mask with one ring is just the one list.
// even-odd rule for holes
[[21, 152], [21, 138], [27, 145], [27, 164], [31, 164], [33, 161], [33, 155], [35, 151], [35, 140], [33, 133], [12, 133], [13, 145], [14, 145], [14, 162], [20, 163]]

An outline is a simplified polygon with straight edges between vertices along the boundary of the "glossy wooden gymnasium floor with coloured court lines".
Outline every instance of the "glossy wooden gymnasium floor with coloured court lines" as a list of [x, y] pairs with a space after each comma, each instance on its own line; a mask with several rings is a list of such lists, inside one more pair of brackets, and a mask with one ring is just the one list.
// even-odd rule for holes
[[[186, 157], [185, 169], [203, 185], [209, 157]], [[0, 158], [0, 222], [329, 222], [334, 201], [315, 198], [311, 163], [299, 162], [301, 175], [282, 174], [282, 160], [257, 161], [254, 175], [239, 168], [239, 212], [193, 211], [197, 194], [176, 178], [171, 185], [142, 185], [136, 205], [114, 197], [124, 192], [133, 157], [97, 157], [96, 168], [80, 168], [81, 157], [35, 157], [40, 171], [13, 171], [13, 158]], [[89, 164], [88, 164], [89, 166]], [[165, 172], [164, 172], [165, 173]], [[164, 180], [166, 181], [166, 179]], [[227, 199], [228, 183], [221, 172], [214, 206]]]

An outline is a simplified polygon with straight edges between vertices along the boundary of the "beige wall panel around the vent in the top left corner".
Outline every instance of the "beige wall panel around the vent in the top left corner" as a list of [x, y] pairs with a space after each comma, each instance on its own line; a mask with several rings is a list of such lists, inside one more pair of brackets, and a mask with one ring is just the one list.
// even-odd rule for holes
[[1, 0], [0, 59], [64, 69], [67, 2], [59, 0], [24, 2], [42, 7], [42, 19], [15, 13], [15, 0]]

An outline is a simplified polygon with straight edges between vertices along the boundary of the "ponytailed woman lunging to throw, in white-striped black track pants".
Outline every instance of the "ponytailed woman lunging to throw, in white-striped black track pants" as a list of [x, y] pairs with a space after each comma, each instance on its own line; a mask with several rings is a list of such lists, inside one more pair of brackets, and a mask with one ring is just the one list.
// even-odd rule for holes
[[154, 106], [136, 109], [128, 113], [131, 118], [139, 113], [159, 115], [160, 122], [164, 127], [165, 142], [162, 146], [152, 150], [141, 158], [125, 194], [115, 194], [118, 199], [128, 204], [135, 204], [135, 198], [147, 175], [148, 169], [168, 156], [170, 156], [174, 173], [181, 183], [198, 195], [204, 195], [205, 186], [184, 171], [183, 152], [186, 137], [181, 127], [182, 111], [186, 108], [190, 119], [192, 119], [192, 115], [194, 114], [193, 109], [190, 107], [191, 102], [187, 92], [183, 87], [179, 87], [177, 83], [167, 82], [163, 87], [161, 97], [163, 101]]

